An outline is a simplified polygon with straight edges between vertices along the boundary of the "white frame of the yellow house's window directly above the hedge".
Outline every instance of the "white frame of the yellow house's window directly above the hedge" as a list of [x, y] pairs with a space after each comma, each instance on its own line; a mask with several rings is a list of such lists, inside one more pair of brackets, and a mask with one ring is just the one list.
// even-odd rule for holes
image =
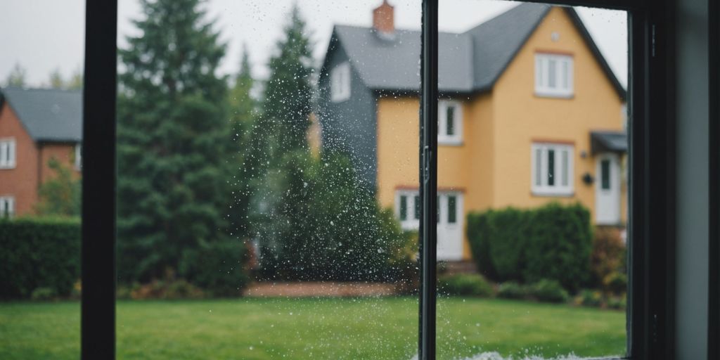
[[[541, 150], [541, 161], [537, 159], [537, 150]], [[557, 154], [554, 161], [554, 174], [556, 174], [556, 181], [554, 185], [547, 184], [548, 178], [548, 161], [547, 151], [554, 150]], [[562, 161], [559, 155], [562, 151], [567, 151], [567, 185], [562, 184]], [[546, 196], [546, 197], [570, 197], [575, 194], [575, 146], [562, 143], [533, 143], [531, 146], [531, 171], [530, 171], [530, 184], [532, 193], [534, 195]], [[537, 184], [537, 171], [538, 163], [540, 168], [540, 179], [541, 184]]]

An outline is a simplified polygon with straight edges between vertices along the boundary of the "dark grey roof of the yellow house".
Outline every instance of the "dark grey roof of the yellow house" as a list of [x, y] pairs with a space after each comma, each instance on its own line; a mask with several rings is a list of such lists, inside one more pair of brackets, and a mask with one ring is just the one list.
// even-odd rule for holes
[[[440, 32], [438, 89], [446, 92], [490, 89], [551, 7], [521, 4], [462, 34]], [[564, 9], [618, 94], [624, 97], [623, 87], [600, 55], [580, 17], [572, 8]], [[336, 25], [333, 38], [341, 42], [370, 89], [417, 91], [420, 88], [420, 31], [396, 30], [393, 37], [387, 38], [369, 27]]]

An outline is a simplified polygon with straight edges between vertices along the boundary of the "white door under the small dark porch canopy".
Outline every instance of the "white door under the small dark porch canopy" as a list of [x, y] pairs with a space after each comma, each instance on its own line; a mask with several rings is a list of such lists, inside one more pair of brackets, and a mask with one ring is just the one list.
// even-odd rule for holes
[[620, 161], [616, 154], [600, 154], [595, 171], [595, 223], [620, 223]]

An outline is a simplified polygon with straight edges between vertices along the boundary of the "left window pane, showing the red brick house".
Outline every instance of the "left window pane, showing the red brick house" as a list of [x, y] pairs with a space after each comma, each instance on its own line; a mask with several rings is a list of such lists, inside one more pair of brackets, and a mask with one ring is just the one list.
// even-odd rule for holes
[[85, 1], [1, 12], [0, 359], [79, 359]]

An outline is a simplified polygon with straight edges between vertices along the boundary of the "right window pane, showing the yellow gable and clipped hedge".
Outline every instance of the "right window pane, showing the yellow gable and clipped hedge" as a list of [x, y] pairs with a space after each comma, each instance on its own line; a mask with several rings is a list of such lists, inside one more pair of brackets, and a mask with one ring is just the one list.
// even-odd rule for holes
[[437, 359], [625, 357], [626, 14], [439, 6]]

